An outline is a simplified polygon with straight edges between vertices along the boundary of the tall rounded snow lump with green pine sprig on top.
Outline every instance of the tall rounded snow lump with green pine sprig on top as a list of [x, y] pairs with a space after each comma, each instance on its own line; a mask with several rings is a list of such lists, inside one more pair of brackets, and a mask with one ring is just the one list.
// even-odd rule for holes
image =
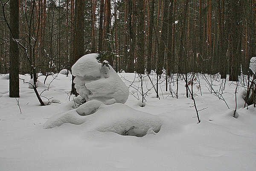
[[125, 103], [129, 90], [107, 61], [99, 63], [99, 54], [82, 56], [72, 67], [77, 92], [86, 101], [104, 104]]

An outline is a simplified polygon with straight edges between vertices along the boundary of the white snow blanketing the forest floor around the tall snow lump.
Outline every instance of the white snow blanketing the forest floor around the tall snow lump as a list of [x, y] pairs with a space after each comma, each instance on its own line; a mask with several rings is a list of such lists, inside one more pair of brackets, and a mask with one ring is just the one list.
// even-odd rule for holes
[[[220, 76], [206, 75], [229, 110], [225, 101], [215, 96], [219, 94], [208, 90], [204, 75], [196, 75], [195, 101], [198, 110], [204, 109], [199, 111], [198, 124], [194, 103], [191, 97], [186, 98], [183, 80], [178, 81], [176, 99], [174, 93], [165, 92], [162, 77], [159, 100], [150, 79], [145, 77], [143, 91], [148, 92], [145, 107], [140, 107], [143, 105], [141, 89], [137, 88], [138, 75], [119, 73], [130, 91], [126, 103], [106, 105], [91, 100], [85, 103], [87, 106], [80, 106], [87, 111], [86, 116], [80, 116], [81, 110], [70, 110], [73, 97], [68, 93], [72, 76], [54, 76], [57, 77], [53, 81], [54, 77], [48, 76], [45, 86], [52, 83], [42, 95], [59, 99], [61, 104], [40, 106], [33, 89], [20, 80], [17, 100], [21, 114], [16, 99], [9, 98], [8, 76], [0, 76], [0, 170], [256, 170], [256, 108], [241, 108], [244, 105], [241, 84], [236, 119], [233, 117], [236, 84], [226, 81], [223, 90]], [[29, 75], [20, 78], [30, 80]], [[44, 83], [44, 78], [40, 76], [38, 80]], [[156, 76], [151, 75], [151, 80], [155, 84]], [[176, 93], [176, 83], [171, 85]], [[39, 92], [46, 87], [38, 87]]]

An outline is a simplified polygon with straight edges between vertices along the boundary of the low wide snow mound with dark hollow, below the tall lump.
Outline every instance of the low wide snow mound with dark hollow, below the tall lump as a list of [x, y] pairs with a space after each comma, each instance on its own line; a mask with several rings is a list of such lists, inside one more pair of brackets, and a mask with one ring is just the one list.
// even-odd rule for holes
[[125, 104], [105, 105], [92, 100], [77, 109], [52, 116], [43, 127], [54, 128], [64, 123], [80, 125], [81, 129], [90, 132], [113, 132], [142, 137], [158, 133], [163, 122], [159, 116], [132, 109]]

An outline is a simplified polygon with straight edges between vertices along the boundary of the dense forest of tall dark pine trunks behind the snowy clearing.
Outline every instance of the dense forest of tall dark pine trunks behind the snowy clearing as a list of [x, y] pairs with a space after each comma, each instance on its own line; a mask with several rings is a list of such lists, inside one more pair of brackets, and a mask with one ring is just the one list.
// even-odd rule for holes
[[15, 39], [12, 1], [0, 0], [0, 73], [9, 73], [12, 41], [20, 74], [70, 70], [97, 52], [116, 72], [219, 72], [237, 81], [256, 55], [256, 0], [16, 0]]

